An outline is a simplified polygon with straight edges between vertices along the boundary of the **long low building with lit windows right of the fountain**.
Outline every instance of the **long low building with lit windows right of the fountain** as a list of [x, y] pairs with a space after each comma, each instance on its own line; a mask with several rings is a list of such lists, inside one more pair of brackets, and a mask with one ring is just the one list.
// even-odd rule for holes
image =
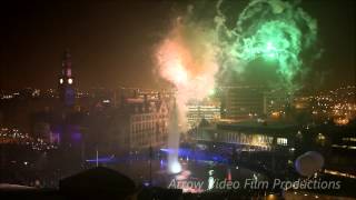
[[297, 132], [295, 124], [244, 121], [218, 123], [198, 129], [197, 141], [234, 143], [246, 149], [270, 150], [273, 147], [293, 148]]

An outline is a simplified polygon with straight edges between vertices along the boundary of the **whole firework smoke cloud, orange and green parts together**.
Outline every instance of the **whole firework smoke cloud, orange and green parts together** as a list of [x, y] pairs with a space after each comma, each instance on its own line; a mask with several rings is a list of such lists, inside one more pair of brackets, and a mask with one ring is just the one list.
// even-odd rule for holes
[[261, 80], [294, 92], [320, 57], [317, 21], [297, 1], [251, 0], [239, 13], [226, 9], [230, 3], [215, 2], [214, 14], [201, 3], [188, 6], [155, 51], [157, 71], [177, 89], [182, 117], [189, 99], [204, 99], [219, 84]]

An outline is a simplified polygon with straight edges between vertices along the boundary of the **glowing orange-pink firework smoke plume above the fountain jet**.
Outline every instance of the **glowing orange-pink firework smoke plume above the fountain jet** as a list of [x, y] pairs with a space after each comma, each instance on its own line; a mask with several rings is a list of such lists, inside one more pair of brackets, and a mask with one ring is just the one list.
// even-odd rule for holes
[[176, 102], [182, 131], [188, 128], [188, 100], [208, 97], [215, 88], [215, 74], [218, 71], [217, 47], [212, 44], [214, 30], [186, 22], [178, 18], [155, 52], [157, 72], [177, 91]]

